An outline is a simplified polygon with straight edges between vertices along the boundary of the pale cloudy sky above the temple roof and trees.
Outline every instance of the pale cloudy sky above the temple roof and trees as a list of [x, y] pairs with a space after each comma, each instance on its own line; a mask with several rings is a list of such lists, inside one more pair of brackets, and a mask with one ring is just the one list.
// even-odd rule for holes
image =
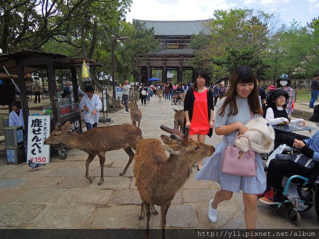
[[217, 9], [255, 9], [274, 13], [281, 24], [306, 25], [319, 16], [319, 0], [133, 0], [126, 21], [187, 21], [213, 18]]

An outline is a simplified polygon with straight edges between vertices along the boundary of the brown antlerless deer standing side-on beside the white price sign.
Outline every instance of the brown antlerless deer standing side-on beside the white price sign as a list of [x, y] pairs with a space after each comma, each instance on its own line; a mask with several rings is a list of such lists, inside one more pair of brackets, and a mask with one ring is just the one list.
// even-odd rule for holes
[[104, 182], [104, 163], [106, 151], [123, 148], [130, 159], [120, 176], [126, 173], [134, 158], [137, 143], [142, 137], [142, 131], [131, 124], [111, 125], [92, 128], [84, 133], [74, 133], [70, 129], [70, 121], [63, 126], [57, 125], [52, 134], [44, 141], [46, 144], [64, 143], [70, 147], [80, 149], [89, 154], [85, 162], [85, 177], [92, 183], [89, 177], [89, 165], [96, 155], [100, 158], [101, 178], [98, 185]]

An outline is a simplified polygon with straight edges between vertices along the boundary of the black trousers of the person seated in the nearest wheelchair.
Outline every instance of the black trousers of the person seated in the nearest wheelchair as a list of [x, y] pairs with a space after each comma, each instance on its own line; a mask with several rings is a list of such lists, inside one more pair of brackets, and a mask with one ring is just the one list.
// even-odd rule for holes
[[307, 167], [302, 167], [293, 163], [290, 160], [271, 160], [267, 169], [267, 185], [272, 186], [275, 189], [280, 189], [283, 182], [284, 175], [287, 173], [295, 173], [303, 177], [308, 177], [309, 175], [318, 172], [318, 166], [309, 169]]

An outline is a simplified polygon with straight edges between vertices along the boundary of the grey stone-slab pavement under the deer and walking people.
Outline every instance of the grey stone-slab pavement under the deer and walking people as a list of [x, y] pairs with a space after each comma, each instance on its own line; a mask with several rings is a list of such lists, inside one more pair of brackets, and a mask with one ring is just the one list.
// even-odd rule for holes
[[[171, 101], [157, 97], [151, 103], [140, 106], [142, 121], [140, 128], [144, 138], [159, 138], [168, 134], [160, 130], [160, 125], [173, 127], [175, 109], [181, 105], [171, 105]], [[307, 109], [307, 103], [296, 103], [296, 109]], [[113, 124], [132, 123], [130, 114], [124, 110], [108, 114]], [[303, 112], [304, 113], [304, 112]], [[308, 125], [315, 126], [307, 121]], [[105, 124], [99, 123], [99, 126]], [[313, 135], [304, 132], [305, 135]], [[216, 145], [221, 136], [213, 134], [206, 143]], [[51, 163], [37, 170], [26, 164], [0, 166], [0, 229], [136, 229], [145, 228], [146, 219], [138, 220], [140, 197], [135, 187], [133, 163], [124, 176], [118, 174], [128, 161], [123, 149], [106, 152], [105, 182], [98, 186], [100, 178], [99, 160], [96, 158], [89, 168], [94, 178], [90, 183], [85, 178], [87, 154], [77, 149], [67, 149], [67, 158], [60, 160], [55, 151]], [[2, 159], [3, 160], [3, 159]], [[166, 228], [210, 228], [244, 229], [242, 193], [234, 193], [230, 201], [218, 207], [218, 220], [209, 221], [208, 202], [219, 185], [214, 182], [196, 181], [192, 175], [183, 188], [176, 193], [167, 213]], [[156, 206], [157, 210], [160, 208]], [[160, 215], [152, 215], [151, 228], [160, 228]], [[278, 214], [263, 203], [258, 202], [259, 229], [297, 229], [285, 218], [285, 210]], [[302, 229], [319, 229], [314, 209], [302, 213]]]

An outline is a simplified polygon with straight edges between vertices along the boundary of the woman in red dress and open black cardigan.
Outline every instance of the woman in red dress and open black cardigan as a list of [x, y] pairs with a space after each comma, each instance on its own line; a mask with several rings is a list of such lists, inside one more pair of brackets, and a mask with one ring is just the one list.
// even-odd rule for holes
[[[185, 127], [189, 128], [189, 138], [205, 143], [206, 135], [213, 135], [213, 92], [205, 87], [208, 84], [209, 75], [204, 70], [196, 72], [196, 82], [186, 92], [184, 100], [184, 111], [186, 121]], [[198, 162], [198, 170], [202, 168], [203, 162]]]

